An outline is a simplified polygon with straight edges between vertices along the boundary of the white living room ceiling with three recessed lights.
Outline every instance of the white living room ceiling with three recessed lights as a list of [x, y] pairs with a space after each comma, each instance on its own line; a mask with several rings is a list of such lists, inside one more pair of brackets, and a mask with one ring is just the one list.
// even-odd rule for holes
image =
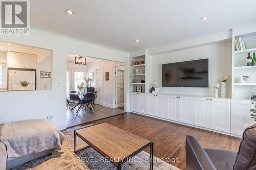
[[[124, 52], [256, 22], [254, 0], [33, 0], [30, 4], [32, 28]], [[66, 9], [74, 14], [66, 14]], [[209, 19], [200, 20], [203, 16]]]

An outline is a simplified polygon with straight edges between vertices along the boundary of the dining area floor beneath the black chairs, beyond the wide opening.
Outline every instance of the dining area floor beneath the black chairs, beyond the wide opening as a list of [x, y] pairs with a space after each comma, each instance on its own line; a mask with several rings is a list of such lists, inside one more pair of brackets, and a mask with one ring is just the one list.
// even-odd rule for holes
[[89, 123], [98, 119], [115, 116], [118, 114], [125, 113], [122, 108], [109, 108], [101, 105], [97, 105], [98, 109], [93, 106], [93, 111], [83, 109], [80, 110], [78, 114], [76, 112], [67, 110], [67, 127], [73, 127], [84, 123]]

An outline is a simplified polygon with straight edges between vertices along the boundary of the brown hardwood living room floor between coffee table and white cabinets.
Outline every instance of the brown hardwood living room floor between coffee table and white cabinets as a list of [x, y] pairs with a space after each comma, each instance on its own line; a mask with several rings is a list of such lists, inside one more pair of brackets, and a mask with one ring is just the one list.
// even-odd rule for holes
[[[240, 138], [210, 132], [202, 129], [170, 123], [135, 113], [120, 114], [101, 119], [90, 124], [106, 122], [125, 131], [154, 142], [154, 156], [158, 158], [178, 158], [179, 162], [168, 162], [180, 169], [186, 169], [185, 137], [192, 135], [204, 148], [238, 151]], [[83, 124], [84, 126], [87, 124]], [[77, 128], [77, 127], [76, 127]], [[72, 130], [72, 129], [69, 129]], [[146, 150], [149, 152], [149, 150]]]

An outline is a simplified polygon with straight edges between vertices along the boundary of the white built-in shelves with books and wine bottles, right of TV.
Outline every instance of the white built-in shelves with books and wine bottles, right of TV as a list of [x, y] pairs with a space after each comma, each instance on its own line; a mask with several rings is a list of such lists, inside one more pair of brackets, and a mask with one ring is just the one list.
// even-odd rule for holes
[[[237, 50], [235, 41], [242, 38], [246, 50]], [[232, 35], [232, 99], [250, 100], [256, 95], [256, 66], [247, 66], [248, 53], [256, 53], [256, 32]], [[249, 83], [242, 83], [242, 76], [250, 76]]]

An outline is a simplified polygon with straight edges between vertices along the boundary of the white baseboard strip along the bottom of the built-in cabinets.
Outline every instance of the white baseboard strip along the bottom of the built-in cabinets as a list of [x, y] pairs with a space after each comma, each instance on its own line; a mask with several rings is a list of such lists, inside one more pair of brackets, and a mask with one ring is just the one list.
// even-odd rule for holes
[[176, 124], [180, 124], [180, 125], [185, 125], [185, 126], [189, 126], [189, 127], [193, 127], [193, 128], [197, 128], [197, 129], [203, 129], [203, 130], [207, 130], [207, 131], [211, 131], [211, 132], [221, 133], [221, 134], [224, 134], [224, 135], [234, 136], [234, 137], [238, 137], [238, 138], [242, 137], [240, 135], [236, 135], [236, 134], [232, 134], [232, 133], [228, 133], [228, 132], [221, 132], [221, 131], [214, 130], [214, 129], [208, 129], [208, 128], [199, 127], [199, 126], [195, 126], [195, 125], [189, 125], [189, 124], [177, 122], [177, 121], [174, 121], [174, 120], [169, 120], [169, 119], [166, 119], [166, 118], [161, 118], [161, 117], [152, 116], [152, 115], [148, 115], [148, 114], [143, 114], [143, 113], [139, 113], [139, 112], [131, 111], [131, 113], [140, 114], [140, 115], [143, 115], [143, 116], [146, 116], [146, 117], [153, 117], [153, 118], [156, 118], [156, 119], [165, 120], [166, 122], [172, 122], [172, 123], [176, 123]]

